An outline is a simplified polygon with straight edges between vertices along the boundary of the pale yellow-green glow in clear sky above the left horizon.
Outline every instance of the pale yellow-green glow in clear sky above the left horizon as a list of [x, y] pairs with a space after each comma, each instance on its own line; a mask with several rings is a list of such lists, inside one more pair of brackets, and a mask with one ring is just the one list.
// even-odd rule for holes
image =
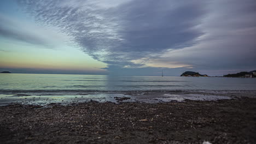
[[[8, 49], [6, 48], [8, 46]], [[59, 70], [106, 71], [107, 64], [92, 59], [84, 52], [67, 47], [66, 49], [42, 49], [41, 47], [5, 44], [0, 51], [2, 68], [34, 68]], [[16, 47], [18, 47], [16, 45]]]

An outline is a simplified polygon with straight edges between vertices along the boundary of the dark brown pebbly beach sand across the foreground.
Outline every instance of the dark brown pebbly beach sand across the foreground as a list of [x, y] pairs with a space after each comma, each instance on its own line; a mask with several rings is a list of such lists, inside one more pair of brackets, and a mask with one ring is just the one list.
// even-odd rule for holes
[[0, 106], [1, 143], [256, 143], [256, 99]]

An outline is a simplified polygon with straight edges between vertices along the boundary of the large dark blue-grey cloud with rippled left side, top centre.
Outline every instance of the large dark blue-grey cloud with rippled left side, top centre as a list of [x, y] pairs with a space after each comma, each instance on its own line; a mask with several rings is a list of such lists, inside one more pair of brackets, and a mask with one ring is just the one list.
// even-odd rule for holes
[[[19, 1], [38, 22], [59, 27], [103, 62], [126, 63], [196, 43], [201, 3], [176, 1]], [[118, 3], [117, 3], [118, 2]]]

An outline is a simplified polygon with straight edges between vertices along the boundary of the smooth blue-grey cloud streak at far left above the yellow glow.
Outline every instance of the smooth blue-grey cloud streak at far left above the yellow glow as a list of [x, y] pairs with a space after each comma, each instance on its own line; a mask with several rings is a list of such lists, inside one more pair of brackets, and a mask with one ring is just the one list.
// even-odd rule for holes
[[19, 41], [48, 49], [68, 44], [69, 37], [54, 27], [40, 26], [24, 17], [3, 14], [0, 14], [0, 21], [0, 36], [13, 39], [13, 42]]

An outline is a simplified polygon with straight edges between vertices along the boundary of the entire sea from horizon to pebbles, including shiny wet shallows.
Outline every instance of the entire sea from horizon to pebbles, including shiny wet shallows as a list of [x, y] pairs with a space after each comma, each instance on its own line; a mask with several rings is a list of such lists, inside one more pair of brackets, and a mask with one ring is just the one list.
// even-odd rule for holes
[[0, 105], [86, 101], [160, 103], [255, 95], [256, 79], [230, 77], [0, 74]]

